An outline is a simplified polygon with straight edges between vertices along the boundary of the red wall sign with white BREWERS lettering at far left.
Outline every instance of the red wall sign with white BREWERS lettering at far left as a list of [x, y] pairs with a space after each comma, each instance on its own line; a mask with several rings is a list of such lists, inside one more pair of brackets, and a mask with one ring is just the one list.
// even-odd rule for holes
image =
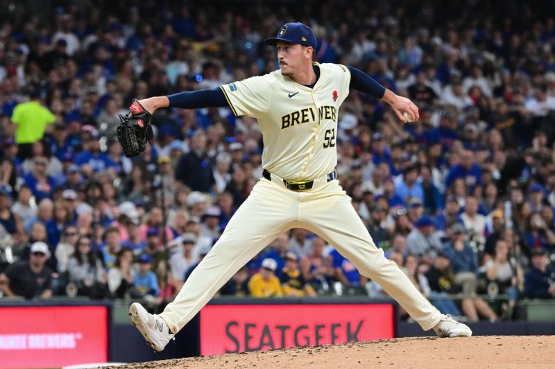
[[0, 307], [0, 368], [108, 361], [108, 307]]

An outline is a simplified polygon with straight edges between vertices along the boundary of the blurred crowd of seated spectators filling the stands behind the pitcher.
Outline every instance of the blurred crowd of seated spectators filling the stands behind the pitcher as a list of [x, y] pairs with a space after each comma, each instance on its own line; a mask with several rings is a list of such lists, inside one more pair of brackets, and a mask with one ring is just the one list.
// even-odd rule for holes
[[[164, 109], [128, 159], [118, 114], [277, 69], [262, 39], [296, 19], [316, 61], [356, 66], [420, 109], [402, 125], [352, 91], [339, 114], [339, 179], [386, 257], [470, 321], [555, 298], [555, 12], [533, 3], [64, 1], [48, 19], [3, 7], [0, 295], [171, 300], [262, 177], [262, 136], [227, 108]], [[302, 229], [219, 292], [354, 293], [385, 297]]]

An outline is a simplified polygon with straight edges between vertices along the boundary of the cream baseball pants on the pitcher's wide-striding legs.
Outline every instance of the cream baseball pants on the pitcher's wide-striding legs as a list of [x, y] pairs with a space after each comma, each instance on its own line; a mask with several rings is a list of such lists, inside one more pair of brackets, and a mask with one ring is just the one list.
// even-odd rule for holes
[[375, 246], [339, 181], [317, 179], [311, 190], [296, 192], [278, 180], [260, 179], [176, 299], [160, 314], [171, 331], [181, 330], [234, 273], [291, 228], [305, 228], [332, 244], [362, 275], [397, 300], [423, 330], [439, 322], [438, 309]]

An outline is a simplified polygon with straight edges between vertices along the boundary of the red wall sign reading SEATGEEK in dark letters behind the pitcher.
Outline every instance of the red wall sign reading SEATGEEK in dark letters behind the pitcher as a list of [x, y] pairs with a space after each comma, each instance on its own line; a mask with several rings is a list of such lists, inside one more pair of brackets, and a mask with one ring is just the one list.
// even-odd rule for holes
[[200, 354], [393, 339], [395, 319], [391, 304], [207, 305]]

